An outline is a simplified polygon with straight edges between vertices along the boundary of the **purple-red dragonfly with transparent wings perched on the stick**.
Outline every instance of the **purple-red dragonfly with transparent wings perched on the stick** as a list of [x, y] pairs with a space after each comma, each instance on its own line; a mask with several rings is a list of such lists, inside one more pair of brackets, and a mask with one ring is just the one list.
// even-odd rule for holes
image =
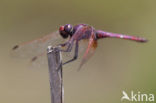
[[[64, 43], [57, 44], [57, 39], [59, 37], [61, 37], [62, 40], [66, 40], [66, 41], [63, 41]], [[63, 26], [60, 26], [59, 31], [57, 32], [50, 33], [43, 37], [34, 39], [32, 41], [15, 45], [12, 48], [12, 50], [14, 52], [21, 51], [23, 55], [25, 50], [33, 51], [31, 52], [34, 53], [31, 61], [34, 62], [40, 56], [45, 54], [45, 52], [43, 51], [45, 51], [49, 45], [56, 44], [56, 47], [58, 47], [61, 52], [66, 52], [66, 53], [70, 53], [73, 50], [73, 47], [75, 47], [73, 57], [65, 61], [63, 63], [64, 65], [73, 62], [78, 58], [80, 41], [87, 40], [87, 48], [85, 49], [85, 52], [83, 54], [79, 66], [79, 68], [81, 68], [83, 64], [86, 63], [86, 61], [88, 61], [89, 58], [94, 54], [97, 48], [97, 41], [99, 39], [104, 39], [104, 38], [119, 38], [119, 39], [131, 40], [131, 41], [136, 41], [141, 43], [147, 42], [147, 39], [142, 37], [111, 33], [103, 30], [96, 30], [93, 26], [90, 26], [88, 24], [77, 24], [75, 26], [72, 26], [71, 24], [65, 24]]]

